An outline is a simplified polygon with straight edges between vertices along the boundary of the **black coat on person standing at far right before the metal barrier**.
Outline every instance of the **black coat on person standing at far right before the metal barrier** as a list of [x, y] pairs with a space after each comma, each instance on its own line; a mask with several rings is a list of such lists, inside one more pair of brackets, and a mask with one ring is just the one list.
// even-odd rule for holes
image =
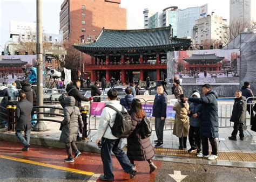
[[234, 105], [230, 121], [234, 123], [244, 123], [246, 113], [246, 97], [241, 96], [234, 99]]

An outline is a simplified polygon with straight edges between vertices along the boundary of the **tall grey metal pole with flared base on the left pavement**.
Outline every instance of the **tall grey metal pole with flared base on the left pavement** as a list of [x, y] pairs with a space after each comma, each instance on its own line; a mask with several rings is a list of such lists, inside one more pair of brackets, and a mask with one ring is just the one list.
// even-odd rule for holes
[[[42, 33], [42, 0], [36, 1], [36, 53], [37, 53], [37, 106], [43, 106], [43, 33]], [[39, 113], [43, 113], [43, 108], [38, 108]], [[43, 119], [43, 115], [37, 115], [38, 119]], [[45, 131], [47, 129], [43, 121], [37, 121], [35, 131]]]

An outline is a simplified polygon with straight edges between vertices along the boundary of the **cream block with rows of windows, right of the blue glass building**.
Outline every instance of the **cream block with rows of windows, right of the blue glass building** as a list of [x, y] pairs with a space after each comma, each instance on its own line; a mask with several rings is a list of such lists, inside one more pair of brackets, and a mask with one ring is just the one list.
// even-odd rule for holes
[[221, 40], [227, 30], [227, 20], [216, 15], [208, 15], [196, 20], [193, 27], [193, 39], [196, 44], [207, 40]]

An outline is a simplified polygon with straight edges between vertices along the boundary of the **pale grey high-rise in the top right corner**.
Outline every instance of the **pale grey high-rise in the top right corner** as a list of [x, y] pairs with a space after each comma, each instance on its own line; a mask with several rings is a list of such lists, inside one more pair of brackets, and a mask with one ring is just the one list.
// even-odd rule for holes
[[256, 22], [255, 0], [230, 0], [230, 24]]

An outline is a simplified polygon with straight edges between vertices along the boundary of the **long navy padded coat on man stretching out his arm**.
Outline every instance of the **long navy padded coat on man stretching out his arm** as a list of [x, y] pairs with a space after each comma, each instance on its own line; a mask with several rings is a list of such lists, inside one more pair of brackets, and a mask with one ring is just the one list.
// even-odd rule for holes
[[201, 115], [200, 135], [201, 137], [217, 138], [219, 137], [219, 116], [218, 116], [218, 94], [210, 90], [201, 98], [188, 98], [189, 102], [200, 103]]

